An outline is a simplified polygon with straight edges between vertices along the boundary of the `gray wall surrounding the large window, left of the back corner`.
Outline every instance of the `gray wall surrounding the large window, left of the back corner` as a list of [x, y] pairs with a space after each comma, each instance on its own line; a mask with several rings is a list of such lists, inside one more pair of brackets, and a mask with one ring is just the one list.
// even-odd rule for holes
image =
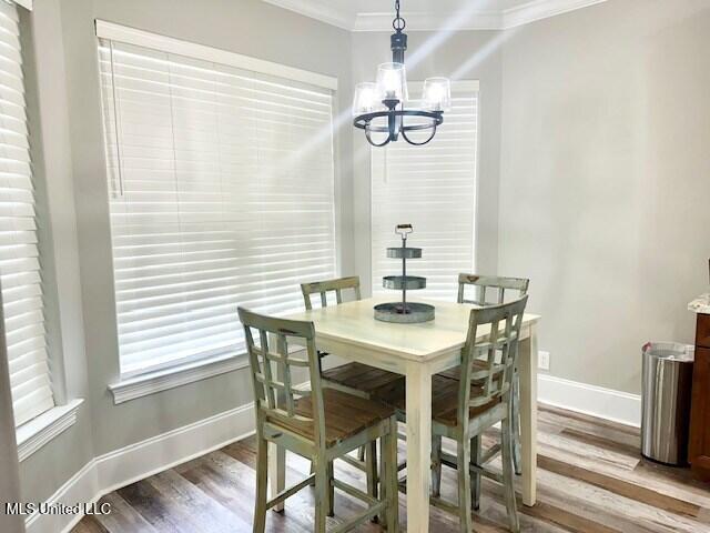
[[[39, 73], [33, 107], [39, 109], [34, 123], [41, 142], [33, 147], [33, 157], [40, 195], [49, 197], [45, 259], [59, 288], [57, 294], [48, 294], [49, 314], [60, 324], [53, 338], [63, 343], [67, 366], [65, 393], [64, 380], [58, 380], [57, 388], [61, 396], [85, 402], [73, 428], [21, 464], [23, 497], [29, 501], [45, 500], [93, 456], [252, 400], [245, 371], [120, 405], [106, 389], [118, 381], [119, 355], [95, 18], [336, 77], [346, 93], [338, 105], [349, 107], [349, 33], [260, 0], [36, 2], [27, 26], [36, 30], [29, 51], [38, 64], [27, 70]], [[337, 132], [336, 153], [339, 264], [349, 273], [354, 250], [348, 124]]]

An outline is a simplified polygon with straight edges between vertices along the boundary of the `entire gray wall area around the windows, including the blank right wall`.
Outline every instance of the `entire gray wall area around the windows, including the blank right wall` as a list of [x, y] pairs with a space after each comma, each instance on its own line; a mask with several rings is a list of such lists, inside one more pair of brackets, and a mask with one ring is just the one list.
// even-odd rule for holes
[[[609, 0], [506, 32], [410, 33], [409, 79], [480, 81], [479, 270], [532, 278], [555, 375], [637, 392], [642, 342], [691, 340], [684, 308], [710, 252], [709, 9]], [[341, 264], [369, 283], [369, 151], [348, 108], [353, 83], [388, 59], [388, 33], [351, 36], [260, 0], [36, 2], [50, 342], [60, 394], [87, 401], [21, 464], [30, 501], [95, 455], [251, 401], [243, 371], [118, 406], [106, 390], [119, 365], [94, 18], [337, 77]], [[434, 53], [412, 62], [418, 50]]]

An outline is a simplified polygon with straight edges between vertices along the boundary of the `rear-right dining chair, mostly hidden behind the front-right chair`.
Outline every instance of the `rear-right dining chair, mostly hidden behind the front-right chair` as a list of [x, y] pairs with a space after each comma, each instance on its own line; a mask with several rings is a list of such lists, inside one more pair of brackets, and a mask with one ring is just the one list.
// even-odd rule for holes
[[[530, 280], [526, 278], [504, 278], [498, 275], [478, 275], [478, 274], [458, 274], [458, 303], [473, 303], [481, 308], [489, 305], [499, 305], [506, 302], [506, 294], [514, 292], [514, 299], [523, 298], [528, 292]], [[471, 289], [467, 291], [467, 289]], [[470, 294], [473, 292], [473, 294]], [[474, 364], [483, 366], [486, 363], [476, 361]], [[458, 381], [460, 376], [460, 368], [442, 372], [439, 375]], [[520, 460], [520, 382], [518, 369], [515, 369], [513, 376], [513, 401], [510, 409], [513, 410], [513, 457], [515, 473], [523, 473], [523, 464]], [[471, 444], [474, 456], [479, 453], [480, 443]]]

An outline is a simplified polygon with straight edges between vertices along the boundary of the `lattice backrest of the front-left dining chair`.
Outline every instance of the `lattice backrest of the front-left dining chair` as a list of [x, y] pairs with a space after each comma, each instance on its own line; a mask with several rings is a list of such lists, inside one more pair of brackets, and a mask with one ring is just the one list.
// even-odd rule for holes
[[[323, 389], [313, 322], [276, 319], [243, 308], [239, 308], [239, 315], [246, 339], [257, 423], [272, 420], [313, 424], [316, 444], [325, 446]], [[254, 342], [254, 331], [258, 345]], [[275, 341], [275, 350], [271, 348], [270, 339]], [[305, 345], [306, 359], [290, 351], [290, 339], [297, 339], [300, 346]], [[278, 368], [280, 376], [274, 378], [272, 365]], [[294, 389], [292, 366], [308, 369], [311, 391]], [[295, 400], [304, 395], [311, 396], [312, 416], [296, 413]]]

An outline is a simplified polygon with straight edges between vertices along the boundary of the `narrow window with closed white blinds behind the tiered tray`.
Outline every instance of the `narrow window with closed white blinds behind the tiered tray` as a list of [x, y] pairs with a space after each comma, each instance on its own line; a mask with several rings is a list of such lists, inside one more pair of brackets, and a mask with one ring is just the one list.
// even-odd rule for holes
[[413, 296], [456, 301], [458, 273], [474, 269], [478, 87], [455, 82], [452, 91], [452, 110], [444, 113], [444, 124], [429, 144], [402, 141], [372, 149], [375, 294], [395, 298], [383, 289], [382, 278], [402, 270], [385, 252], [400, 245], [394, 233], [399, 223], [414, 225], [409, 245], [423, 249], [422, 259], [407, 262], [408, 274], [427, 279], [427, 288]]

